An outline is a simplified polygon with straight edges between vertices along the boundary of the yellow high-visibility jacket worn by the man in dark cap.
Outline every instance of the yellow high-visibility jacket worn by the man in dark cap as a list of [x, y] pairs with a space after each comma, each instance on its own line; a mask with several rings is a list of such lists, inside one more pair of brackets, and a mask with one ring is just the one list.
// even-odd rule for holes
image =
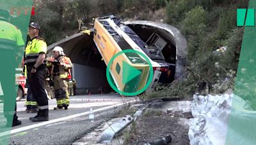
[[44, 39], [38, 36], [28, 42], [25, 51], [25, 64], [28, 66], [33, 66], [36, 63], [40, 53], [46, 54], [47, 45]]

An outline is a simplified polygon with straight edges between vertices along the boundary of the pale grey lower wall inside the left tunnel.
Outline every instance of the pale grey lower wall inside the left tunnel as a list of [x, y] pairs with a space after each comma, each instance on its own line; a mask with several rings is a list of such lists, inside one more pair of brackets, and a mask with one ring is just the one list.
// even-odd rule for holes
[[91, 93], [99, 93], [99, 88], [102, 87], [104, 93], [109, 92], [109, 85], [104, 69], [73, 64], [72, 75], [77, 82], [77, 94], [87, 93], [89, 88]]

